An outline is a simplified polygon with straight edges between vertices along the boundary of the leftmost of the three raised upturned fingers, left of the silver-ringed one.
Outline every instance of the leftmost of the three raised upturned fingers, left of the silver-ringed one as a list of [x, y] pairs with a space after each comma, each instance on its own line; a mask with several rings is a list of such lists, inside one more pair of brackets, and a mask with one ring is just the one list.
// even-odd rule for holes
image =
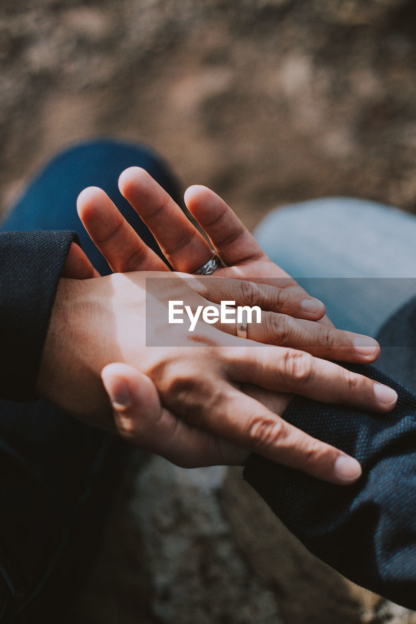
[[101, 188], [84, 188], [77, 198], [77, 211], [91, 240], [115, 273], [169, 271]]

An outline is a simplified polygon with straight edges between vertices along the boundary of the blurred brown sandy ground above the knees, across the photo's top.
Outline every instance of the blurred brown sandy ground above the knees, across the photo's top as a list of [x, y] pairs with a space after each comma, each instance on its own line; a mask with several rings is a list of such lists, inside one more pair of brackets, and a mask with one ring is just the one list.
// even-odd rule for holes
[[253, 227], [294, 200], [416, 205], [413, 0], [2, 0], [4, 210], [59, 147], [152, 145]]

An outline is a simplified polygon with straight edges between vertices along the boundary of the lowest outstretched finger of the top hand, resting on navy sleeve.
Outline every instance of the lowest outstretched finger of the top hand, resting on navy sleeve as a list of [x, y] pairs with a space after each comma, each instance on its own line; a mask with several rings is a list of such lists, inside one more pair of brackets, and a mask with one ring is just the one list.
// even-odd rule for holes
[[[188, 383], [189, 379], [177, 380], [178, 392], [172, 392], [164, 400], [184, 412], [184, 418], [195, 426], [209, 427], [216, 436], [224, 437], [236, 446], [319, 479], [348, 485], [359, 478], [361, 467], [355, 459], [300, 431], [230, 384], [219, 382], [214, 389], [210, 384], [201, 384], [197, 392], [187, 394]], [[187, 394], [186, 409], [184, 391]]]

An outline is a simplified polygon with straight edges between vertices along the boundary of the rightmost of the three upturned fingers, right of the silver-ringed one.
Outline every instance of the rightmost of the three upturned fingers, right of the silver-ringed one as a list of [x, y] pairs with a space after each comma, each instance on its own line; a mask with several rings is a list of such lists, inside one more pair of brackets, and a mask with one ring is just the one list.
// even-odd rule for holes
[[266, 257], [249, 230], [214, 191], [194, 185], [186, 190], [184, 199], [226, 265]]

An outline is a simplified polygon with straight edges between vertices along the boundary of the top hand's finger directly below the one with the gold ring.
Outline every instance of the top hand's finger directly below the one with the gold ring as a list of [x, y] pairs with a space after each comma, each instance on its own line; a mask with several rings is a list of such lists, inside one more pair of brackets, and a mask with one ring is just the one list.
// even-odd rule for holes
[[388, 412], [397, 402], [397, 393], [389, 386], [333, 362], [295, 349], [251, 344], [222, 349], [230, 379], [369, 411]]

